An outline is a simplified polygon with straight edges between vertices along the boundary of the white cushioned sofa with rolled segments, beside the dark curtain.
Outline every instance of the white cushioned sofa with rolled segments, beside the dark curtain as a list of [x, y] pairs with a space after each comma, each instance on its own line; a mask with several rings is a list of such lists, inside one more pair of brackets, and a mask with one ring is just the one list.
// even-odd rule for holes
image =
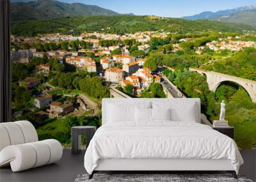
[[0, 123], [0, 167], [10, 165], [13, 172], [39, 167], [61, 159], [58, 140], [38, 141], [29, 121]]

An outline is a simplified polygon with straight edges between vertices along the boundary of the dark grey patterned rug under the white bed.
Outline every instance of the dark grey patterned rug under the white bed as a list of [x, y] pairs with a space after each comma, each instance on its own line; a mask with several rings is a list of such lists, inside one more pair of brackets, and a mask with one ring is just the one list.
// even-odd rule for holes
[[88, 179], [88, 176], [88, 174], [78, 175], [75, 179], [75, 182], [253, 182], [250, 179], [244, 178], [244, 176], [238, 176], [239, 179], [234, 179], [231, 174], [94, 174], [92, 179]]

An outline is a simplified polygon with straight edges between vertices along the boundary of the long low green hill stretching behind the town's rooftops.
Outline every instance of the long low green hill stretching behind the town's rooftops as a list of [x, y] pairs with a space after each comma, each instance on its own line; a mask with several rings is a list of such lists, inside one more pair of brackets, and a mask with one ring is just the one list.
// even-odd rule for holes
[[60, 19], [32, 20], [12, 23], [11, 32], [17, 35], [33, 36], [38, 33], [75, 34], [84, 31], [103, 31], [108, 33], [134, 33], [136, 31], [170, 31], [172, 33], [188, 33], [202, 31], [234, 32], [254, 30], [253, 27], [227, 22], [210, 20], [184, 20], [161, 17], [118, 15], [118, 16], [84, 16], [64, 17]]

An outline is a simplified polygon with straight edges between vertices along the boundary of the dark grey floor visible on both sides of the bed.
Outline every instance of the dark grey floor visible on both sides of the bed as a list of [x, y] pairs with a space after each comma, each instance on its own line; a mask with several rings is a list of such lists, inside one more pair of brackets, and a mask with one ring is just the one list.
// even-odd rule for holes
[[[256, 181], [256, 150], [241, 151], [244, 165], [240, 168], [240, 174]], [[28, 171], [12, 172], [10, 167], [0, 169], [1, 182], [28, 182], [28, 181], [68, 181], [72, 182], [78, 174], [85, 174], [83, 166], [84, 151], [79, 155], [72, 155], [70, 150], [63, 151], [63, 157], [58, 163], [45, 165]], [[197, 173], [197, 172], [196, 172]], [[199, 172], [200, 173], [200, 172]], [[211, 173], [211, 172], [210, 172]], [[216, 172], [218, 173], [218, 172]]]

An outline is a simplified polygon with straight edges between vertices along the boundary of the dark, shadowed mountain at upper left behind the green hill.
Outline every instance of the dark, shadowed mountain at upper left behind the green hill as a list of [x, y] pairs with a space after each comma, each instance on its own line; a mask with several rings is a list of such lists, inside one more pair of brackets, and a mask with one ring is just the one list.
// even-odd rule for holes
[[11, 21], [42, 20], [82, 15], [118, 15], [115, 11], [81, 3], [41, 0], [11, 3]]

